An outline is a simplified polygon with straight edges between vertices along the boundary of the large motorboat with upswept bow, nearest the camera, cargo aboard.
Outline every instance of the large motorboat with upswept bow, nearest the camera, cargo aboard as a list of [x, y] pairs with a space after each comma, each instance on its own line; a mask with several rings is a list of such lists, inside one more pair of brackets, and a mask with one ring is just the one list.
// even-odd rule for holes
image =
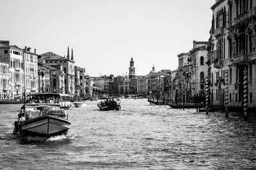
[[[33, 96], [40, 97], [40, 94]], [[70, 122], [66, 111], [60, 106], [45, 106], [45, 103], [31, 106], [29, 103], [22, 106], [14, 125], [13, 134], [19, 134], [21, 137], [56, 136], [67, 134]]]

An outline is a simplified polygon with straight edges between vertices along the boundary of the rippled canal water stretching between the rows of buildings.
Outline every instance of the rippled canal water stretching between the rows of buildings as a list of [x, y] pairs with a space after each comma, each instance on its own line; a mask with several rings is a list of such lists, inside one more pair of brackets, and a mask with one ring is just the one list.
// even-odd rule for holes
[[0, 105], [0, 169], [255, 169], [256, 121], [124, 99], [67, 110], [67, 136], [17, 138], [20, 105]]

